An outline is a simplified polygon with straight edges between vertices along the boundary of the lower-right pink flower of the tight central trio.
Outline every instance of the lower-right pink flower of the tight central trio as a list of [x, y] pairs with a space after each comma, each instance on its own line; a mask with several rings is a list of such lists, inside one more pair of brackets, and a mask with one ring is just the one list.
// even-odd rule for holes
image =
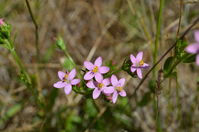
[[126, 96], [126, 92], [123, 90], [125, 78], [121, 78], [119, 81], [115, 75], [111, 76], [111, 83], [115, 89], [112, 96], [112, 101], [115, 103], [118, 98], [118, 94], [122, 97]]

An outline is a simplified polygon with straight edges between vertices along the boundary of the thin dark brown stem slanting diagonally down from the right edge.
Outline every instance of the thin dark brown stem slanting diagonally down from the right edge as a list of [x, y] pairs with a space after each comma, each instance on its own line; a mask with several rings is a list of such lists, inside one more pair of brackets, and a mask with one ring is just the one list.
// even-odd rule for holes
[[[183, 40], [184, 37], [187, 35], [187, 33], [199, 22], [199, 17], [183, 32], [183, 34], [180, 36], [179, 40]], [[164, 57], [176, 46], [178, 40], [175, 41], [175, 43], [159, 58], [159, 60], [151, 67], [151, 69], [146, 73], [146, 75], [143, 77], [143, 79], [140, 81], [138, 86], [136, 87], [133, 95], [136, 94], [137, 90], [140, 88], [140, 86], [143, 84], [143, 82], [147, 79], [149, 74], [154, 70], [154, 68], [164, 59]], [[132, 95], [132, 96], [133, 96]]]

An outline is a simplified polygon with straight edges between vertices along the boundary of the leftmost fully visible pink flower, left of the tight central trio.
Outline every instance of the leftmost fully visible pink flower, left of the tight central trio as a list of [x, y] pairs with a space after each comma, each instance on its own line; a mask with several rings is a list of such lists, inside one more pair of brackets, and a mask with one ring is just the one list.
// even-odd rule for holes
[[76, 76], [76, 70], [73, 69], [71, 72], [58, 72], [58, 77], [61, 81], [54, 83], [55, 88], [64, 88], [65, 93], [68, 95], [72, 90], [72, 85], [76, 85], [80, 82], [80, 79], [74, 79]]

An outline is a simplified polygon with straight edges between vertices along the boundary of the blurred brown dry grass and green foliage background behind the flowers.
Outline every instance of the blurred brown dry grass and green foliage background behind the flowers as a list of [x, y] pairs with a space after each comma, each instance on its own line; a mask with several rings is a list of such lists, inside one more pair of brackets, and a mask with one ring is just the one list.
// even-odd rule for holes
[[[14, 58], [0, 47], [0, 131], [199, 131], [199, 68], [195, 64], [178, 65], [177, 77], [163, 82], [158, 120], [151, 76], [138, 90], [135, 101], [130, 95], [140, 80], [118, 73], [127, 79], [127, 97], [119, 97], [116, 104], [75, 92], [65, 95], [63, 89], [53, 88], [57, 71], [67, 68], [65, 54], [56, 46], [58, 36], [80, 68], [84, 60], [94, 61], [98, 56], [105, 64], [121, 66], [126, 57], [139, 51], [152, 65], [159, 0], [29, 0], [29, 4], [38, 24], [39, 62], [35, 27], [26, 1], [0, 0], [0, 17], [12, 25], [14, 47], [38, 91], [35, 94], [21, 83]], [[158, 58], [197, 16], [199, 1], [165, 0]], [[195, 41], [196, 29], [199, 24], [186, 36], [189, 43]]]

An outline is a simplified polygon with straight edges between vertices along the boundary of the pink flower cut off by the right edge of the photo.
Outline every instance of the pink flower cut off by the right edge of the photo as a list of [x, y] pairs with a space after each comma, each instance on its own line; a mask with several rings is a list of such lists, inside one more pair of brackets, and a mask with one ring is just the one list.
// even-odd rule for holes
[[187, 48], [185, 50], [188, 53], [197, 54], [196, 64], [199, 66], [199, 30], [195, 31], [194, 36], [195, 36], [196, 42], [187, 46]]

